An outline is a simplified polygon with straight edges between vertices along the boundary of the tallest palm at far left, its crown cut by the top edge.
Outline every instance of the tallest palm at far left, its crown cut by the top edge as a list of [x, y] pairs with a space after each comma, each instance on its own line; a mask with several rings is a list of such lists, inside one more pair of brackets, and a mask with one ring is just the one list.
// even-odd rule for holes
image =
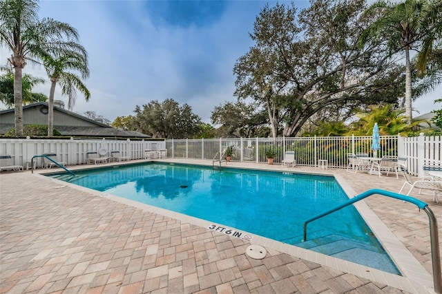
[[36, 62], [48, 50], [66, 48], [66, 39], [78, 39], [77, 30], [67, 23], [38, 17], [37, 0], [0, 0], [0, 45], [12, 55], [15, 69], [15, 134], [23, 136], [22, 70], [26, 61]]

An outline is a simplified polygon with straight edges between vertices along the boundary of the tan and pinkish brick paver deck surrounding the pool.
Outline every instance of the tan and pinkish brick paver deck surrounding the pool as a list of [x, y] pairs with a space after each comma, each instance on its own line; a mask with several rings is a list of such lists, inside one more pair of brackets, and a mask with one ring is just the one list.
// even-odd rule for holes
[[[343, 170], [293, 170], [336, 174], [356, 193], [396, 192], [403, 183]], [[341, 271], [340, 262], [312, 262], [273, 246], [253, 260], [244, 240], [30, 171], [1, 172], [0, 195], [0, 293], [432, 293], [432, 283], [419, 284], [412, 273], [390, 280], [356, 267]], [[441, 204], [419, 198], [442, 222]], [[381, 196], [365, 203], [431, 273], [425, 213]]]

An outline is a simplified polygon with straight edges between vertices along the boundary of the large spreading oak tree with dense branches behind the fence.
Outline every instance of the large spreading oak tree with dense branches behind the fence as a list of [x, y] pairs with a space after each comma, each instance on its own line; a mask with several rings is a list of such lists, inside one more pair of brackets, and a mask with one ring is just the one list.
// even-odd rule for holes
[[296, 136], [314, 114], [329, 107], [396, 103], [403, 67], [389, 59], [386, 45], [358, 47], [372, 17], [365, 1], [319, 0], [296, 7], [265, 6], [256, 18], [249, 52], [238, 59], [236, 96], [267, 109], [273, 136]]

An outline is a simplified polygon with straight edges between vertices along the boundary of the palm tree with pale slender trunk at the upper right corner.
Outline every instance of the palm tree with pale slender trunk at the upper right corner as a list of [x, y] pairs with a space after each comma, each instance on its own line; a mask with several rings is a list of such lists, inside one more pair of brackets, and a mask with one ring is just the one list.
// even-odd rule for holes
[[380, 17], [361, 35], [361, 44], [369, 38], [385, 38], [390, 54], [405, 51], [405, 116], [412, 123], [412, 78], [410, 50], [421, 51], [419, 67], [425, 68], [432, 44], [441, 35], [441, 0], [405, 0], [390, 3], [376, 1], [367, 9], [367, 14], [380, 13]]

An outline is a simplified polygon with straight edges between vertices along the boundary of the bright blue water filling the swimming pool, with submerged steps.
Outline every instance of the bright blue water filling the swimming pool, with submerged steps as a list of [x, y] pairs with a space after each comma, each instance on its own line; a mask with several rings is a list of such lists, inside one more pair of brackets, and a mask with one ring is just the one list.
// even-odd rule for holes
[[156, 163], [75, 174], [49, 176], [400, 274], [352, 206], [309, 223], [302, 242], [305, 220], [348, 200], [331, 176]]

